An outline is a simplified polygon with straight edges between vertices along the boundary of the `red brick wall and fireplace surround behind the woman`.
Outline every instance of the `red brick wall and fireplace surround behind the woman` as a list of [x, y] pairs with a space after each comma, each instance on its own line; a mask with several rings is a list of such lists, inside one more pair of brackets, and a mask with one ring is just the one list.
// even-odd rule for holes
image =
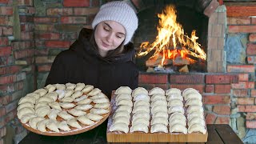
[[[18, 143], [26, 136], [28, 131], [16, 116], [18, 100], [44, 86], [55, 56], [69, 48], [83, 26], [90, 26], [104, 2], [107, 1], [0, 1], [0, 144]], [[193, 87], [203, 95], [207, 123], [230, 124], [243, 142], [256, 143], [256, 3], [242, 0], [130, 2], [138, 10], [136, 49], [141, 42], [154, 40], [158, 22], [155, 14], [173, 3], [177, 10], [182, 10], [178, 20], [186, 33], [190, 35], [191, 30], [197, 30], [198, 42], [207, 55], [204, 67], [190, 69], [188, 73], [146, 72], [147, 58], [136, 59], [139, 86], [149, 90], [155, 86], [165, 90]], [[190, 17], [186, 18], [190, 10]]]

